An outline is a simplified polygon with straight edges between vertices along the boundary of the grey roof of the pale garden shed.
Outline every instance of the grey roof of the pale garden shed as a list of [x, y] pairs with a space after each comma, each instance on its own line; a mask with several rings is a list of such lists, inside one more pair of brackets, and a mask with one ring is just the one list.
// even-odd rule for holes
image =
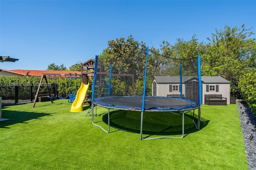
[[[154, 77], [157, 83], [180, 83], [180, 77], [171, 76], [171, 77]], [[182, 83], [189, 81], [190, 79], [197, 79], [193, 76], [184, 76], [182, 77]], [[202, 76], [201, 80], [203, 83], [230, 83], [228, 80], [224, 79], [221, 76]]]

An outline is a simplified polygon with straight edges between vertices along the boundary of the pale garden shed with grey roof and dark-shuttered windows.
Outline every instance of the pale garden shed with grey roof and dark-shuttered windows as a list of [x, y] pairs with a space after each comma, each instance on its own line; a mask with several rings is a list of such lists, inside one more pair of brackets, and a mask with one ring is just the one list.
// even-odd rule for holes
[[[230, 104], [230, 82], [223, 77], [201, 77], [202, 80], [202, 104], [204, 95], [216, 94], [227, 98]], [[182, 89], [180, 87], [180, 77], [154, 77], [152, 82], [153, 96], [182, 95], [192, 101], [198, 100], [198, 78], [182, 77]]]

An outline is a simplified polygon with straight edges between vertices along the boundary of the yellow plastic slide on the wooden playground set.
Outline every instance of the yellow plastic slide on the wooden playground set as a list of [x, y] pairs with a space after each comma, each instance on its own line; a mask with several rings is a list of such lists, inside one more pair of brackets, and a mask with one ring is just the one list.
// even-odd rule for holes
[[87, 94], [87, 90], [90, 86], [90, 83], [85, 85], [84, 83], [81, 83], [80, 88], [78, 89], [76, 93], [76, 98], [74, 102], [72, 103], [70, 112], [82, 112], [83, 111], [83, 106], [84, 106], [84, 99]]

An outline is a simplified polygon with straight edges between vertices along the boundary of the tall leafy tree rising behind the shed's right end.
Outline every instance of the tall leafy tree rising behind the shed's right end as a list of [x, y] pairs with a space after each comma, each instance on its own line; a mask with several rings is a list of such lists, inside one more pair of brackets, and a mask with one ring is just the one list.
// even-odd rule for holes
[[238, 81], [241, 75], [248, 72], [249, 68], [256, 66], [256, 42], [250, 38], [252, 28], [230, 28], [224, 26], [222, 30], [216, 30], [212, 38], [207, 38], [207, 53], [202, 59], [202, 75], [222, 76], [231, 82], [231, 94], [240, 98]]

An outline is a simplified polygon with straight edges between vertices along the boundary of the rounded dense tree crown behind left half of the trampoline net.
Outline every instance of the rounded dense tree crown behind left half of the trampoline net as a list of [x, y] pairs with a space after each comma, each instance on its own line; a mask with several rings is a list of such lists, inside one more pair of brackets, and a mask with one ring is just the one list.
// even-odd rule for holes
[[[127, 39], [120, 38], [116, 41], [108, 41], [108, 48], [104, 50], [105, 65], [112, 64], [113, 73], [135, 74], [136, 78], [142, 78], [142, 69], [146, 62], [146, 45], [145, 43], [134, 41], [132, 35]], [[103, 55], [102, 55], [103, 56]]]

